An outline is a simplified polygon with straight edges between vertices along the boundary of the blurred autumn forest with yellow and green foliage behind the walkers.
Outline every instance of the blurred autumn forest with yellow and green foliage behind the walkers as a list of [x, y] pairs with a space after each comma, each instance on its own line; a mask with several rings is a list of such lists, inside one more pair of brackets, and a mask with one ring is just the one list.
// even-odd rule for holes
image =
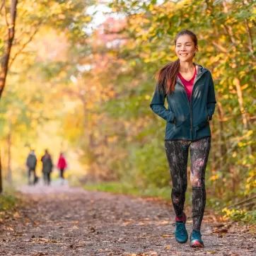
[[[0, 6], [1, 71], [14, 2]], [[16, 10], [0, 100], [4, 187], [27, 182], [30, 148], [38, 160], [49, 149], [55, 164], [65, 153], [73, 185], [170, 199], [165, 122], [149, 104], [154, 74], [177, 58], [175, 35], [190, 29], [217, 100], [207, 204], [256, 221], [255, 1], [23, 0]]]

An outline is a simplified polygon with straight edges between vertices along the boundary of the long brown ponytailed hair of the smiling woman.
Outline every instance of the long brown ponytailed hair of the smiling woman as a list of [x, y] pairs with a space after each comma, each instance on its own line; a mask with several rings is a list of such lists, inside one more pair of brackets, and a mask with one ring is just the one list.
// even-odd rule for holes
[[[176, 35], [174, 43], [176, 46], [176, 42], [178, 38], [182, 35], [189, 35], [192, 41], [194, 42], [194, 46], [197, 46], [197, 36], [192, 33], [190, 30], [182, 30], [178, 35]], [[166, 94], [173, 93], [175, 88], [175, 81], [178, 76], [178, 71], [180, 69], [180, 59], [176, 59], [175, 62], [170, 62], [167, 65], [163, 66], [156, 73], [156, 81], [158, 82], [158, 90], [164, 90]]]

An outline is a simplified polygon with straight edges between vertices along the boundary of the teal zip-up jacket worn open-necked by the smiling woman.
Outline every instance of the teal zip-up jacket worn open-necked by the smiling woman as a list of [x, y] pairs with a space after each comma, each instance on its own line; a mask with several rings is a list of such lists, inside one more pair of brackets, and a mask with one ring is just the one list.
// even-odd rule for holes
[[[168, 109], [165, 108], [167, 98]], [[166, 121], [165, 140], [186, 139], [194, 141], [211, 136], [209, 120], [214, 115], [216, 104], [214, 82], [211, 73], [203, 66], [197, 65], [197, 76], [194, 78], [191, 100], [179, 77], [176, 79], [174, 93], [166, 95], [157, 86], [151, 109]]]

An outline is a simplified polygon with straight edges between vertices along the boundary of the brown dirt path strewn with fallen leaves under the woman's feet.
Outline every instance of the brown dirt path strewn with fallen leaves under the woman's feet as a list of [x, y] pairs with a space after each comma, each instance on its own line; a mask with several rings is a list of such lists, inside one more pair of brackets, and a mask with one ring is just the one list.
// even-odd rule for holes
[[67, 185], [21, 190], [29, 204], [2, 221], [0, 255], [256, 255], [252, 231], [217, 223], [207, 213], [205, 248], [196, 250], [175, 242], [173, 212], [165, 202]]

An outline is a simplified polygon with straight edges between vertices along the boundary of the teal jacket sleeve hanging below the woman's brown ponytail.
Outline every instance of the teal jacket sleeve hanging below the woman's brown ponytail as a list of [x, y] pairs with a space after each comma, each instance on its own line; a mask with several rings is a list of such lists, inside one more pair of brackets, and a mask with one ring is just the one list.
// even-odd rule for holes
[[162, 117], [167, 122], [174, 122], [175, 115], [173, 111], [167, 110], [165, 107], [165, 97], [166, 94], [163, 90], [159, 91], [158, 86], [156, 86], [156, 90], [153, 94], [153, 98], [151, 100], [151, 110], [156, 113], [159, 117]]

